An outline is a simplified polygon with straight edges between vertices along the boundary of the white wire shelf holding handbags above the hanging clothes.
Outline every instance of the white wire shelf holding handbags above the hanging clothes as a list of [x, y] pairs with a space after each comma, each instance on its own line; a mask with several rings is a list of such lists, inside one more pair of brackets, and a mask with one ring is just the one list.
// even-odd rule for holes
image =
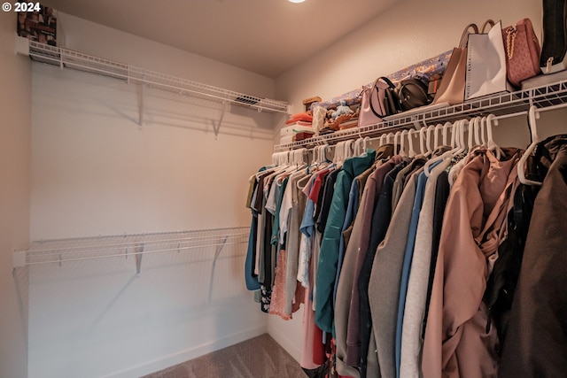
[[492, 113], [495, 116], [524, 113], [535, 105], [547, 108], [558, 104], [567, 104], [567, 81], [558, 81], [534, 89], [518, 90], [511, 93], [500, 93], [493, 96], [480, 97], [456, 105], [424, 106], [409, 112], [386, 117], [382, 122], [365, 127], [353, 127], [326, 135], [317, 135], [309, 139], [276, 144], [275, 152], [309, 148], [321, 144], [333, 144], [354, 137], [377, 136], [403, 128], [420, 128], [431, 123], [444, 123], [462, 118], [484, 116]]

